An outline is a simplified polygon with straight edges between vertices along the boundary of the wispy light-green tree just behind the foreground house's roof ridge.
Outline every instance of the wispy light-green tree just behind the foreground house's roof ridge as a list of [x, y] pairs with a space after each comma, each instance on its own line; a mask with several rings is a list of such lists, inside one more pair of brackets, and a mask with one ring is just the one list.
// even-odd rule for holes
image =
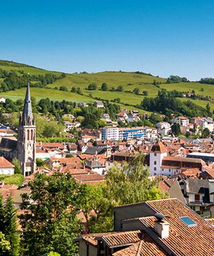
[[108, 197], [116, 205], [144, 202], [167, 197], [158, 189], [157, 181], [148, 179], [148, 168], [144, 166], [144, 154], [139, 153], [130, 163], [114, 165], [107, 172]]

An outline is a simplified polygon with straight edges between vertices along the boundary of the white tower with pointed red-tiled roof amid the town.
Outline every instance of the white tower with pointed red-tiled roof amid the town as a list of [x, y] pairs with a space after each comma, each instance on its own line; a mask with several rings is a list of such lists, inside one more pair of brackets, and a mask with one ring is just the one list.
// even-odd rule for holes
[[158, 141], [153, 145], [149, 154], [149, 174], [150, 176], [161, 175], [162, 159], [167, 156], [167, 147]]

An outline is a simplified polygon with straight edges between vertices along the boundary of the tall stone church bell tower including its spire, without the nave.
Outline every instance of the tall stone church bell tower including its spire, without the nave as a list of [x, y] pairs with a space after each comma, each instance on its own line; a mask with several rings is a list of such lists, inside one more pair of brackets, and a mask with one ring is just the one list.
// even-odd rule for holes
[[17, 158], [20, 160], [24, 176], [36, 169], [36, 126], [32, 113], [30, 83], [28, 81], [24, 99], [24, 109], [20, 114], [17, 140]]

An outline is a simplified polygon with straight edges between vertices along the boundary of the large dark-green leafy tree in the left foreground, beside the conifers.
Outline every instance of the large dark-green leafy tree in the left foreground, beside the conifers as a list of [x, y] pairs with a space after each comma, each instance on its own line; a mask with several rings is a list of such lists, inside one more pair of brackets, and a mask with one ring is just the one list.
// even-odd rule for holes
[[20, 215], [24, 255], [40, 256], [52, 251], [60, 255], [77, 255], [73, 239], [82, 230], [77, 213], [81, 193], [70, 174], [52, 176], [37, 173], [29, 183], [31, 194], [22, 195]]

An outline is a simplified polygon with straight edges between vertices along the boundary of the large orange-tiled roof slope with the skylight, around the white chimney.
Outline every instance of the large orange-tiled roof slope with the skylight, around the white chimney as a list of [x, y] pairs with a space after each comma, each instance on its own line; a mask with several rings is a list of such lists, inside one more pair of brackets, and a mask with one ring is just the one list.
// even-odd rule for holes
[[[214, 229], [201, 216], [175, 198], [149, 201], [146, 204], [167, 216], [165, 220], [169, 223], [169, 237], [162, 240], [177, 255], [213, 256]], [[182, 216], [188, 216], [197, 225], [188, 227], [180, 220]], [[153, 229], [154, 217], [140, 220], [146, 227]]]

